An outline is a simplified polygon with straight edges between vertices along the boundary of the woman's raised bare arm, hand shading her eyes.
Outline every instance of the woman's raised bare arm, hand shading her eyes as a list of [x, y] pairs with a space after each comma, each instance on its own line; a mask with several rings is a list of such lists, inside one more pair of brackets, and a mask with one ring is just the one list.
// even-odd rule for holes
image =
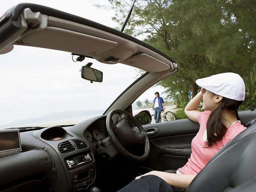
[[198, 122], [197, 116], [200, 111], [198, 111], [198, 106], [203, 99], [205, 89], [201, 88], [201, 91], [186, 105], [185, 113], [192, 121]]

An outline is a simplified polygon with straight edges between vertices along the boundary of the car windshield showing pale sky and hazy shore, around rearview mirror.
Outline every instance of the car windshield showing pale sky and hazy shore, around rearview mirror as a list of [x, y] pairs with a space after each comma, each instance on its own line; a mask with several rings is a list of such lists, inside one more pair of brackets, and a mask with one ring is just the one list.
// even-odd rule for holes
[[[81, 78], [88, 62], [103, 72], [102, 83]], [[0, 128], [73, 125], [102, 115], [139, 73], [123, 64], [74, 62], [69, 52], [25, 46], [0, 55], [0, 63]]]

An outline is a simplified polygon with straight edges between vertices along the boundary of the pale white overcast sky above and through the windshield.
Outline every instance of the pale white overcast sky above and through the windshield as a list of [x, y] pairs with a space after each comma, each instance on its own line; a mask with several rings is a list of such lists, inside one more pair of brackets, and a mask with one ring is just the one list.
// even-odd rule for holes
[[[99, 9], [94, 6], [95, 4], [108, 5], [108, 0], [2, 0], [0, 16], [12, 6], [24, 2], [49, 6], [112, 28], [118, 26], [111, 19], [114, 15], [112, 10]], [[85, 62], [73, 64], [70, 54], [60, 51], [55, 51], [53, 54], [52, 50], [48, 49], [38, 50], [39, 48], [15, 46], [12, 52], [0, 55], [0, 80], [2, 81], [0, 84], [1, 90], [3, 90], [2, 94], [0, 94], [0, 111], [2, 113], [0, 125], [8, 125], [13, 121], [23, 119], [41, 118], [49, 115], [49, 112], [58, 113], [61, 111], [82, 110], [84, 108], [106, 109], [116, 96], [137, 79], [138, 72], [130, 66], [125, 66], [125, 73], [130, 74], [130, 76], [127, 79], [123, 79], [124, 74], [116, 74], [121, 80], [115, 81], [116, 83], [113, 84], [112, 82], [115, 79], [113, 79], [114, 76], [111, 73], [118, 71], [119, 67], [124, 67], [124, 65], [106, 66], [93, 61], [92, 67], [102, 70], [104, 82], [101, 84], [85, 84], [85, 80], [81, 79], [81, 75], [79, 76], [78, 73], [81, 66], [86, 64], [85, 62], [90, 62], [90, 59], [86, 58]], [[48, 56], [42, 57], [42, 55]], [[29, 57], [30, 62], [26, 62], [27, 57]], [[24, 70], [25, 68], [26, 71]], [[60, 71], [58, 69], [62, 70], [61, 73], [58, 72]], [[35, 73], [35, 71], [38, 71], [38, 73]], [[39, 72], [42, 75], [38, 76]], [[70, 73], [74, 73], [72, 78]], [[65, 78], [69, 76], [69, 79]], [[50, 80], [52, 78], [55, 79], [54, 83]], [[15, 87], [17, 84], [22, 86]], [[73, 84], [76, 84], [76, 87]], [[122, 86], [120, 86], [121, 84]], [[33, 88], [31, 89], [31, 87]], [[102, 97], [105, 99], [97, 99], [97, 106], [102, 108], [95, 108], [93, 103], [87, 97], [84, 97], [84, 95], [89, 96], [91, 92], [94, 95], [101, 96], [101, 90], [108, 88], [109, 90], [114, 90], [114, 93], [103, 95]], [[90, 92], [87, 89], [90, 89]], [[164, 97], [162, 94], [163, 88], [154, 87], [143, 93], [139, 100], [154, 99], [156, 91]], [[58, 92], [58, 95], [55, 94], [56, 92]], [[49, 99], [47, 104], [46, 99]], [[84, 99], [87, 102], [84, 102]], [[107, 100], [111, 102], [105, 102]], [[63, 102], [64, 105], [57, 105], [59, 102]]]

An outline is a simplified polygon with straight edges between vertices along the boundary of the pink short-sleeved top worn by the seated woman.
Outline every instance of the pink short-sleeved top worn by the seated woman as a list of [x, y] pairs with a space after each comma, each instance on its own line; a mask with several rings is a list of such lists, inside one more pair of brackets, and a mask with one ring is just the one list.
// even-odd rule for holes
[[246, 129], [246, 127], [237, 122], [227, 129], [222, 140], [216, 141], [216, 143], [207, 148], [207, 144], [203, 140], [202, 135], [206, 129], [206, 123], [210, 113], [211, 111], [198, 113], [197, 120], [200, 124], [200, 128], [191, 142], [192, 154], [186, 165], [178, 169], [178, 171], [183, 174], [197, 175], [224, 145]]

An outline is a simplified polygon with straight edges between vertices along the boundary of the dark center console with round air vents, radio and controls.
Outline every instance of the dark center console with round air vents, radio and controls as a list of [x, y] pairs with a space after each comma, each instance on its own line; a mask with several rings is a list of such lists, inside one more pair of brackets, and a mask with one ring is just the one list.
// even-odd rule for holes
[[[96, 162], [93, 148], [85, 140], [72, 134], [69, 128], [64, 129], [60, 126], [44, 128], [35, 131], [33, 135], [55, 149], [73, 190], [84, 191], [93, 185]], [[61, 169], [60, 166], [57, 167], [57, 175], [58, 169]]]

